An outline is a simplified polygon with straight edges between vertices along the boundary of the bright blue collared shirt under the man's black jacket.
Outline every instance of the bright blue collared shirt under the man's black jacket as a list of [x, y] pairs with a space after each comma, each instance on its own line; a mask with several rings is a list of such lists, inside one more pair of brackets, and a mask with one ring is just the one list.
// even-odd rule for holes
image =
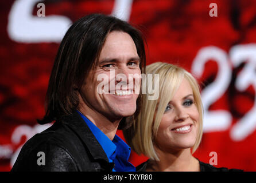
[[113, 172], [135, 172], [135, 167], [128, 161], [131, 148], [117, 135], [113, 141], [110, 140], [96, 125], [94, 125], [87, 117], [77, 111], [86, 122], [96, 140], [102, 146], [107, 155], [109, 162], [114, 162]]

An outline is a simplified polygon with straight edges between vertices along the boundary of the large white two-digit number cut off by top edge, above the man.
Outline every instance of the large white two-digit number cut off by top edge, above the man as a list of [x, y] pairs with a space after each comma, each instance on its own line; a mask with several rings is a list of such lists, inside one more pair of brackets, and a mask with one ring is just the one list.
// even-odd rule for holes
[[[16, 42], [60, 42], [67, 32], [72, 21], [63, 15], [47, 15], [37, 12], [33, 15], [33, 9], [40, 0], [16, 0], [11, 6], [8, 18], [7, 33], [10, 39]], [[44, 5], [44, 3], [38, 3]], [[112, 15], [129, 21], [133, 0], [115, 0]], [[44, 8], [45, 6], [36, 6]], [[40, 9], [38, 9], [40, 10]], [[41, 12], [41, 10], [40, 10]]]

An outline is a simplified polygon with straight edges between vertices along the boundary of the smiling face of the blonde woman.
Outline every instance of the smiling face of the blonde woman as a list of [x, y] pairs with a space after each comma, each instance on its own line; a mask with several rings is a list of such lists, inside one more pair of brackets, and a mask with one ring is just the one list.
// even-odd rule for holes
[[192, 148], [199, 118], [192, 87], [184, 78], [162, 116], [156, 136], [157, 148], [164, 152]]

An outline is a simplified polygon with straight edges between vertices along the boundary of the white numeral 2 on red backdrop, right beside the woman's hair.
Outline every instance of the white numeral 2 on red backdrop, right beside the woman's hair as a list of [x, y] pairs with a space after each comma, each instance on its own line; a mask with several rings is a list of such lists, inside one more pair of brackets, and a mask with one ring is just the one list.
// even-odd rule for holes
[[204, 132], [218, 132], [227, 130], [232, 121], [232, 116], [227, 110], [208, 110], [223, 94], [230, 85], [232, 71], [228, 63], [227, 54], [215, 46], [207, 46], [199, 50], [193, 60], [191, 72], [200, 78], [204, 71], [204, 65], [210, 59], [218, 64], [218, 73], [215, 81], [206, 86], [201, 93], [204, 106]]

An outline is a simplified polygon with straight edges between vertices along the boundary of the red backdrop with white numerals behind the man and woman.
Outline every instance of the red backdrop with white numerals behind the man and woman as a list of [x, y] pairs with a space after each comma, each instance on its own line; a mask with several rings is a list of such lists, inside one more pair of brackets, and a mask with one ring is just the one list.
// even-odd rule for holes
[[[216, 152], [217, 167], [256, 170], [256, 1], [41, 2], [45, 17], [38, 17], [40, 1], [0, 3], [0, 170], [10, 170], [24, 142], [47, 127], [36, 118], [44, 115], [57, 48], [69, 24], [90, 13], [138, 25], [147, 64], [179, 64], [198, 79], [205, 107], [199, 160], [209, 163]], [[209, 14], [211, 3], [217, 17]], [[134, 165], [145, 160], [131, 154]]]

